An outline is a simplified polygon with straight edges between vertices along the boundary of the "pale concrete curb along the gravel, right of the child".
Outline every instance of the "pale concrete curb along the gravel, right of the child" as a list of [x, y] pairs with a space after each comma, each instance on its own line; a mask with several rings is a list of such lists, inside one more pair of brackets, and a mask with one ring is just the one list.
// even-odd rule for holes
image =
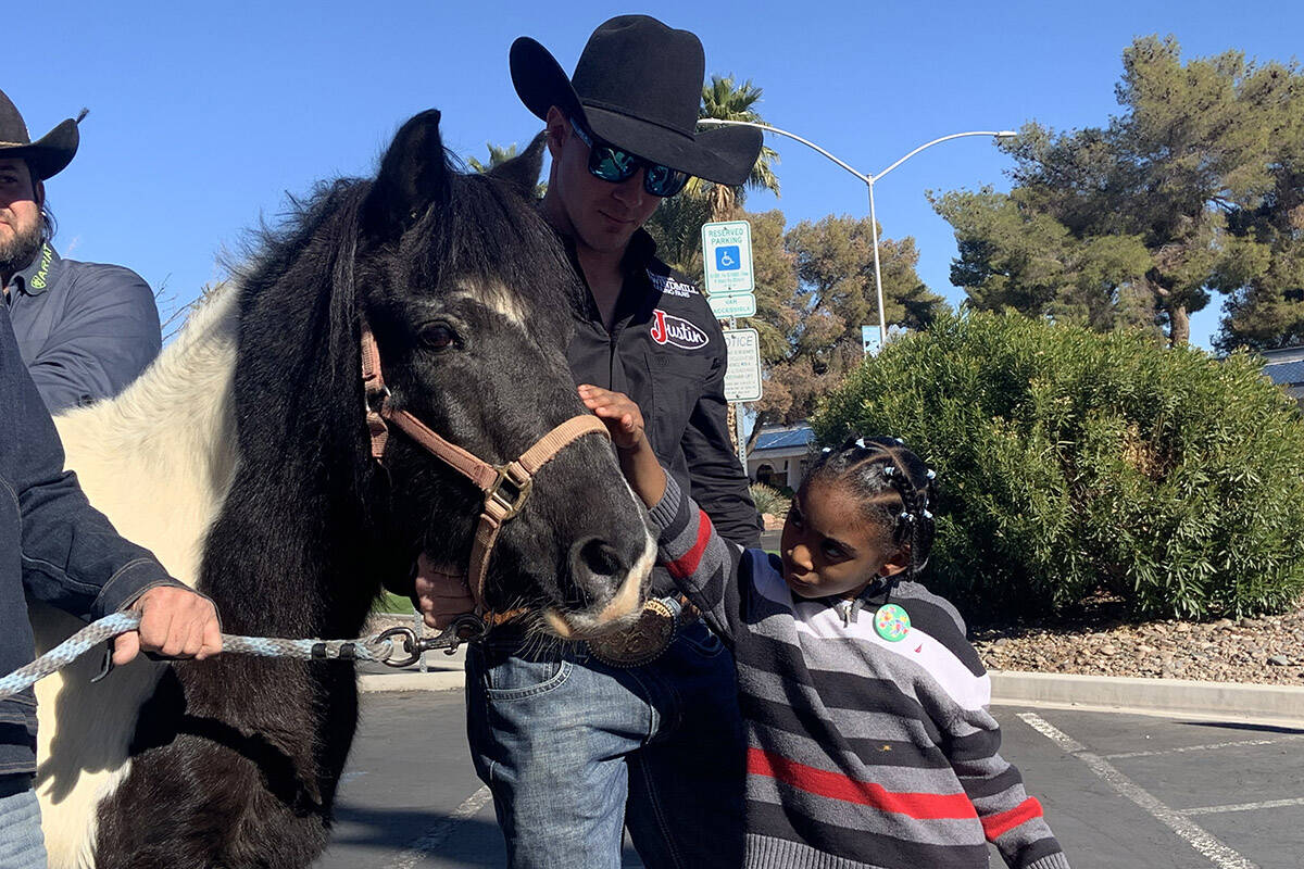
[[991, 672], [992, 704], [1304, 727], [1304, 688], [1189, 679]]

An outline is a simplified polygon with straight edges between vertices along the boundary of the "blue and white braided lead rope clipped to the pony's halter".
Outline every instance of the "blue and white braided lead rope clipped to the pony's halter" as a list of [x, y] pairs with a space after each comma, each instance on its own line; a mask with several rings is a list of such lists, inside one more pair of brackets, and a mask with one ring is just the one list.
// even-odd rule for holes
[[[82, 628], [30, 664], [0, 677], [0, 700], [17, 694], [50, 674], [70, 664], [98, 644], [134, 631], [141, 624], [140, 612], [115, 612]], [[258, 655], [262, 658], [301, 658], [304, 661], [377, 661], [385, 663], [394, 654], [393, 640], [282, 640], [279, 637], [239, 637], [222, 634], [222, 654]]]

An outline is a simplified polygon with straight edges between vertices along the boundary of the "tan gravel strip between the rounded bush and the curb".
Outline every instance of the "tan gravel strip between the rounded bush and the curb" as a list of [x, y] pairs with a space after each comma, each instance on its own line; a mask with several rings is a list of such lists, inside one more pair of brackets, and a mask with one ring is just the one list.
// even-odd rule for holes
[[975, 628], [988, 670], [1304, 685], [1304, 606], [1258, 619]]

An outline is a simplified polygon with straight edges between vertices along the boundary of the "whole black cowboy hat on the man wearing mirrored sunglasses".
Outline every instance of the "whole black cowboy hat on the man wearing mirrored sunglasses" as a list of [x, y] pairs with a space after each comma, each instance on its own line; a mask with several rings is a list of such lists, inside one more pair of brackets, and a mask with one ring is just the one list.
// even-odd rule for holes
[[760, 130], [696, 132], [707, 60], [702, 42], [648, 16], [619, 16], [588, 38], [566, 77], [541, 44], [511, 43], [511, 83], [531, 112], [552, 106], [617, 147], [707, 181], [747, 180], [760, 154]]

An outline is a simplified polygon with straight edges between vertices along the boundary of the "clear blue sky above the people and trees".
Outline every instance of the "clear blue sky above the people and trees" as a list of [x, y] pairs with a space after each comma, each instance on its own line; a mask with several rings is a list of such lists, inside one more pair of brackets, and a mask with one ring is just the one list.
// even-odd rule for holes
[[[8, 16], [0, 87], [33, 135], [81, 107], [82, 147], [48, 185], [57, 246], [117, 262], [164, 289], [164, 307], [222, 276], [216, 258], [287, 194], [363, 175], [412, 113], [443, 112], [446, 145], [527, 142], [541, 124], [519, 103], [507, 47], [519, 35], [572, 69], [588, 34], [623, 12], [694, 30], [707, 72], [752, 78], [767, 120], [879, 172], [923, 142], [1037, 120], [1097, 125], [1118, 111], [1114, 85], [1133, 36], [1174, 34], [1187, 57], [1227, 48], [1291, 60], [1304, 4], [1188, 0], [1064, 3], [492, 4], [60, 3]], [[773, 139], [789, 225], [865, 215], [865, 186], [803, 146]], [[952, 302], [949, 227], [926, 190], [1005, 185], [985, 138], [902, 164], [875, 188], [887, 237], [914, 236], [919, 274]], [[1206, 345], [1221, 298], [1192, 321]]]

